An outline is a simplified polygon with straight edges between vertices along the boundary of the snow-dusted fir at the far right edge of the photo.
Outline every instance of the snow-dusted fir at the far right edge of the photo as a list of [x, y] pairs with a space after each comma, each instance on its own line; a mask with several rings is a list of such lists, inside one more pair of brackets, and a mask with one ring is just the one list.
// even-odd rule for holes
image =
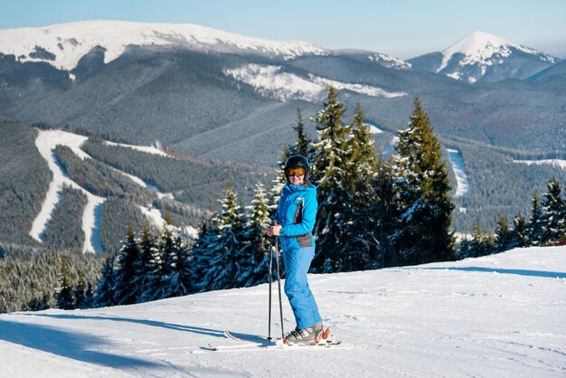
[[552, 176], [547, 184], [548, 192], [542, 196], [544, 230], [542, 242], [559, 241], [566, 237], [566, 202], [561, 197], [561, 184]]

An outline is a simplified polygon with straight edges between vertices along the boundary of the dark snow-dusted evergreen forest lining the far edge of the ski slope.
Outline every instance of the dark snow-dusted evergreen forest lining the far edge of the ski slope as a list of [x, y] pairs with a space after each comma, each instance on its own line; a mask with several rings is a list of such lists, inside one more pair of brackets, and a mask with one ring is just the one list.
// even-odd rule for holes
[[[338, 92], [329, 88], [323, 106], [310, 118], [316, 128], [316, 137], [310, 139], [297, 110], [296, 143], [284, 147], [278, 162], [282, 167], [289, 156], [300, 154], [312, 165], [310, 179], [317, 186], [318, 211], [311, 272], [458, 260], [515, 247], [550, 245], [566, 238], [566, 192], [555, 176], [548, 178], [544, 192], [532, 193], [529, 213], [518, 211], [512, 218], [502, 214], [493, 231], [482, 230], [476, 223], [471, 235], [457, 238], [447, 161], [420, 99], [414, 99], [408, 126], [399, 131], [399, 143], [387, 159], [363, 122], [362, 107], [354, 109], [352, 119], [345, 119], [344, 114]], [[126, 161], [112, 161], [114, 154], [96, 142], [90, 142], [86, 150], [109, 165]], [[58, 154], [65, 165], [73, 165], [71, 154], [64, 149]], [[173, 159], [171, 164], [175, 164]], [[81, 169], [86, 170], [70, 169], [70, 175], [88, 185], [92, 180], [89, 167]], [[134, 168], [123, 165], [119, 169]], [[137, 200], [146, 195], [130, 191], [111, 170], [105, 172], [100, 179], [110, 184], [98, 186], [108, 191], [104, 194]], [[145, 180], [165, 191], [189, 184], [182, 175], [159, 177], [150, 167], [136, 174], [146, 175]], [[240, 176], [246, 177], [244, 173]], [[203, 217], [195, 240], [182, 238], [167, 217], [160, 231], [146, 223], [135, 227], [133, 220], [124, 223], [126, 232], [119, 248], [105, 255], [30, 250], [18, 257], [20, 252], [15, 250], [0, 250], [0, 255], [5, 254], [0, 260], [0, 298], [4, 299], [0, 311], [126, 305], [267, 282], [274, 249], [265, 229], [284, 184], [282, 173], [273, 177], [270, 189], [261, 182], [255, 184], [246, 205], [234, 190], [241, 183], [226, 185], [220, 207]], [[71, 196], [80, 197], [80, 193], [66, 188], [63, 199]], [[76, 217], [79, 210], [75, 207], [61, 205], [61, 212]], [[61, 242], [69, 248], [80, 245], [74, 240]]]

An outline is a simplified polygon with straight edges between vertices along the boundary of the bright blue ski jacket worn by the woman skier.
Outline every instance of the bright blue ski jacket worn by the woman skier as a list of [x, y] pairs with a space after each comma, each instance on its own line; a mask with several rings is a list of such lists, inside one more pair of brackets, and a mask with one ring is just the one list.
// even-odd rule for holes
[[316, 186], [285, 184], [279, 198], [275, 220], [283, 226], [279, 240], [283, 250], [315, 247]]

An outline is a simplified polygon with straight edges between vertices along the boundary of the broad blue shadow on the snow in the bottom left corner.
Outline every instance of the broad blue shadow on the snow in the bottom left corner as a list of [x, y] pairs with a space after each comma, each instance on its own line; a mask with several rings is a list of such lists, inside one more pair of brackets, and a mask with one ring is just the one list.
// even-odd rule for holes
[[71, 332], [52, 326], [40, 326], [1, 319], [0, 340], [85, 363], [100, 364], [118, 369], [128, 370], [136, 369], [137, 367], [161, 366], [160, 364], [133, 357], [94, 350], [104, 348], [110, 345], [110, 343], [95, 335]]

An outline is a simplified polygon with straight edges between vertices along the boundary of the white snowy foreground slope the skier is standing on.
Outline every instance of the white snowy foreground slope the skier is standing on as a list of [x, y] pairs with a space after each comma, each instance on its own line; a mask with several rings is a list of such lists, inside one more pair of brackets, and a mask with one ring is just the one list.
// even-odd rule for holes
[[[140, 305], [0, 315], [6, 377], [498, 376], [566, 373], [566, 247], [310, 275], [333, 349], [253, 346], [268, 285]], [[277, 290], [277, 285], [274, 286]], [[277, 336], [274, 291], [272, 335]], [[286, 332], [294, 326], [284, 298]], [[241, 340], [224, 337], [229, 329]], [[212, 345], [232, 346], [221, 351]], [[297, 368], [297, 366], [299, 368]], [[313, 373], [316, 372], [316, 373]]]

